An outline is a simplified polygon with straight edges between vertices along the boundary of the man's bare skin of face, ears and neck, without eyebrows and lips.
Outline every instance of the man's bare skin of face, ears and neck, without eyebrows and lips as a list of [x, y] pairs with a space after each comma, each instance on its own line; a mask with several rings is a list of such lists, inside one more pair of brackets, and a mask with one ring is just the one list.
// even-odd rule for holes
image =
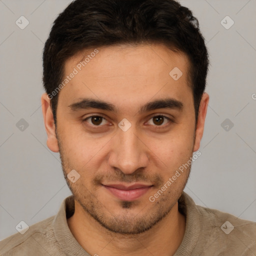
[[[69, 58], [65, 75], [92, 50]], [[68, 226], [91, 255], [158, 255], [159, 251], [173, 255], [185, 231], [185, 217], [178, 211], [177, 199], [190, 167], [154, 202], [149, 196], [198, 150], [209, 96], [202, 96], [195, 125], [185, 54], [162, 44], [115, 45], [98, 51], [60, 90], [56, 127], [50, 100], [46, 93], [41, 97], [47, 146], [60, 153], [64, 176], [75, 197]], [[174, 67], [183, 73], [176, 81], [169, 75]], [[69, 107], [85, 97], [107, 101], [118, 111], [73, 111]], [[182, 109], [139, 112], [141, 105], [166, 97], [182, 102]], [[91, 115], [105, 119], [99, 126], [91, 118], [81, 121]], [[159, 124], [159, 119], [153, 118], [157, 115], [171, 120], [160, 118], [164, 121]], [[126, 131], [118, 127], [123, 118], [131, 124]], [[74, 183], [66, 177], [72, 169], [80, 174]], [[111, 182], [152, 186], [135, 200], [121, 200], [102, 185]]]

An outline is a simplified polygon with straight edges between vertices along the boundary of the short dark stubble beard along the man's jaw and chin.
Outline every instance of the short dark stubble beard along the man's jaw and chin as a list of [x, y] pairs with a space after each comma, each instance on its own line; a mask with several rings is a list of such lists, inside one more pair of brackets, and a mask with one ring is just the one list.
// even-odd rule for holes
[[[132, 213], [132, 209], [134, 209], [139, 204], [135, 200], [120, 201], [119, 206], [121, 208], [121, 213], [114, 213], [111, 212], [110, 209], [107, 209], [107, 207], [96, 198], [93, 191], [89, 191], [85, 187], [84, 183], [81, 182], [82, 178], [79, 178], [80, 182], [70, 182], [70, 180], [67, 178], [67, 173], [69, 172], [68, 170], [71, 170], [72, 168], [69, 167], [70, 165], [68, 162], [68, 158], [65, 157], [59, 140], [58, 145], [64, 178], [74, 196], [74, 199], [83, 208], [85, 215], [87, 214], [92, 217], [108, 231], [124, 235], [139, 234], [145, 232], [151, 229], [161, 219], [163, 219], [170, 212], [170, 210], [180, 197], [186, 185], [191, 168], [191, 166], [189, 166], [186, 172], [182, 173], [182, 175], [184, 175], [184, 177], [182, 178], [182, 183], [174, 186], [174, 189], [172, 188], [172, 184], [154, 202], [146, 200], [146, 205], [142, 207], [140, 212], [136, 214]], [[143, 173], [140, 173], [140, 176], [143, 176]], [[158, 176], [158, 181], [159, 180], [163, 181], [162, 178]], [[161, 182], [160, 186], [163, 183], [165, 182]], [[158, 188], [160, 188], [160, 186]]]

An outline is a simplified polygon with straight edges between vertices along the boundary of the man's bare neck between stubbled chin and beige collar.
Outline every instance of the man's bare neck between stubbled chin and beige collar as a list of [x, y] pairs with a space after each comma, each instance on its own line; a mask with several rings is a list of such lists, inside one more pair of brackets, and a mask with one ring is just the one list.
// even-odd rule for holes
[[180, 245], [185, 232], [185, 217], [178, 203], [151, 229], [139, 234], [119, 234], [102, 227], [75, 200], [74, 214], [67, 224], [77, 242], [90, 255], [161, 255], [171, 256]]

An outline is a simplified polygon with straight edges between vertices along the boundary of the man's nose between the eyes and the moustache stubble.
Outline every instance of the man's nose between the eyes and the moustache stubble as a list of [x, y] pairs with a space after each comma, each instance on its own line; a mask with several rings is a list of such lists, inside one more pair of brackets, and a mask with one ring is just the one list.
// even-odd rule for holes
[[147, 147], [132, 126], [126, 130], [117, 130], [112, 139], [108, 163], [125, 174], [131, 174], [148, 164]]

